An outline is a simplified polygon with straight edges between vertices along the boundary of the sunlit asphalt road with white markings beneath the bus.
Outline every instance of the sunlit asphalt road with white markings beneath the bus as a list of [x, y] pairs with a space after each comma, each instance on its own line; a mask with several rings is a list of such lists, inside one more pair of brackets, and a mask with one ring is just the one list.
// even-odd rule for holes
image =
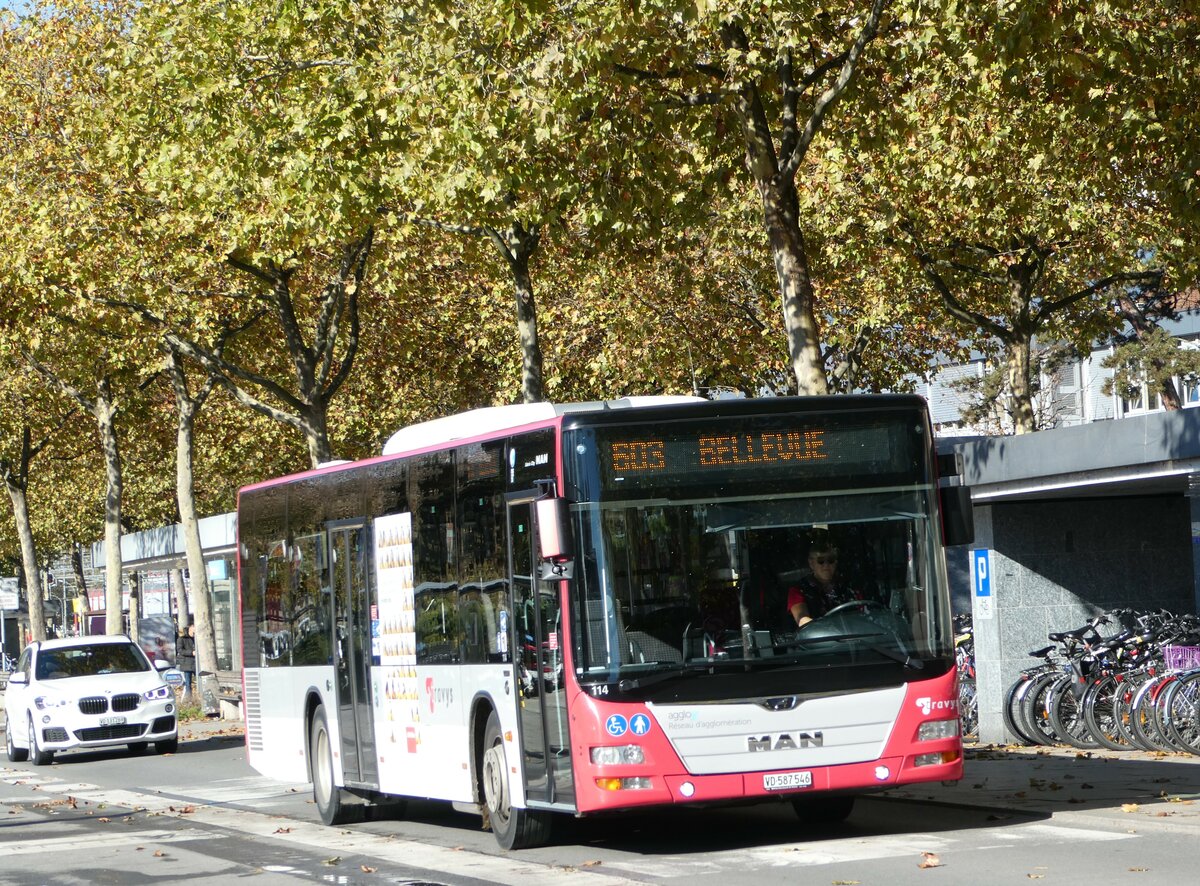
[[976, 804], [862, 800], [845, 825], [820, 832], [804, 832], [782, 803], [563, 819], [553, 845], [512, 854], [476, 816], [440, 803], [323, 827], [307, 785], [250, 770], [235, 726], [190, 735], [174, 755], [74, 752], [48, 767], [5, 764], [0, 882], [1189, 882], [1190, 851], [1180, 848], [1200, 834], [1190, 820], [1120, 810], [1006, 810], [976, 790]]

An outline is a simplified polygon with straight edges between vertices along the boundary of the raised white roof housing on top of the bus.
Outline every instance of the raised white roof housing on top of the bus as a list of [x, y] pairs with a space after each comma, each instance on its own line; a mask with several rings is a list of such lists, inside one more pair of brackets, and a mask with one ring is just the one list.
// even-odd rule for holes
[[493, 431], [505, 431], [523, 427], [538, 421], [569, 415], [580, 412], [602, 412], [605, 409], [632, 409], [646, 406], [665, 406], [667, 403], [704, 402], [703, 397], [690, 394], [634, 396], [620, 400], [596, 400], [587, 403], [517, 403], [515, 406], [486, 406], [456, 415], [421, 421], [402, 427], [391, 435], [383, 447], [384, 455], [408, 453], [414, 449], [449, 443], [464, 437], [479, 437]]

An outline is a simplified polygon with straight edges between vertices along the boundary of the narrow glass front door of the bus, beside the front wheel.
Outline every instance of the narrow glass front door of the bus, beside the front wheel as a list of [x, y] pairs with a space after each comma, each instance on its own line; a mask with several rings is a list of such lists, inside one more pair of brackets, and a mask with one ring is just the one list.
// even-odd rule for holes
[[534, 806], [575, 808], [566, 720], [558, 582], [542, 581], [532, 499], [509, 504], [512, 579], [512, 664], [521, 702], [526, 798]]

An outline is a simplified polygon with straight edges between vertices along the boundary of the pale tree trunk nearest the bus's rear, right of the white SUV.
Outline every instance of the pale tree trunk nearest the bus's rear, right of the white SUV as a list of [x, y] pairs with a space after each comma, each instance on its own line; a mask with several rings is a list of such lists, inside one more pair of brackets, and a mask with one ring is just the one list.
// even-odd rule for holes
[[[200, 523], [196, 517], [196, 484], [192, 473], [194, 408], [180, 405], [176, 414], [179, 421], [175, 433], [175, 496], [179, 502], [179, 520], [184, 528], [184, 547], [187, 551], [192, 609], [196, 612], [196, 678], [204, 712], [218, 713], [217, 641], [212, 627], [209, 573], [204, 565], [204, 549], [200, 545]], [[180, 625], [186, 627], [187, 619], [184, 616], [187, 609], [181, 609], [180, 613]]]

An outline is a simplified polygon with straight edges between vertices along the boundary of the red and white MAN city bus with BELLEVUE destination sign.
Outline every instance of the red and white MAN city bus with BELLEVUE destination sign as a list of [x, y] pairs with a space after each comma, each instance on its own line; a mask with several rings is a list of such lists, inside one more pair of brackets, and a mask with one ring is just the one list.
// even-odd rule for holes
[[[965, 491], [916, 396], [496, 407], [247, 486], [250, 762], [311, 780], [326, 824], [437, 798], [505, 848], [556, 814], [836, 820], [958, 779]], [[800, 628], [814, 531], [860, 599]]]

